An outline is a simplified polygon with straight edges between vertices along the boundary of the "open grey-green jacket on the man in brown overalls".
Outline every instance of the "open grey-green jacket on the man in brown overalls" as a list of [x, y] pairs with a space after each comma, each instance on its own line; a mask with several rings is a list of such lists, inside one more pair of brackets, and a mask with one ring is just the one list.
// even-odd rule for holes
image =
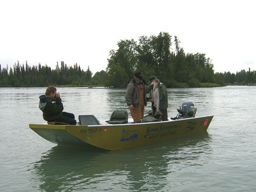
[[[144, 81], [141, 82], [144, 88], [144, 105], [146, 106], [146, 93], [149, 93], [153, 89], [153, 86], [145, 86]], [[135, 79], [132, 79], [127, 86], [125, 92], [125, 101], [127, 105], [133, 104], [134, 106], [139, 106], [139, 82], [137, 82]]]

